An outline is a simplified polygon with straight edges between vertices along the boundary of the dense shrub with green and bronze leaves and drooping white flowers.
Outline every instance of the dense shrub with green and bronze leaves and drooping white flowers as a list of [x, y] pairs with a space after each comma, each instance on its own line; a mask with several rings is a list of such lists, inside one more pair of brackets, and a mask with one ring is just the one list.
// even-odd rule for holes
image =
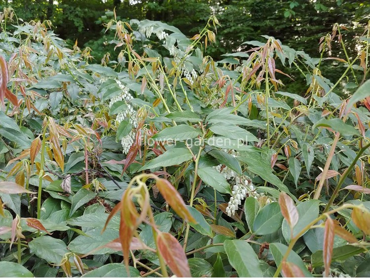
[[189, 39], [113, 13], [96, 64], [1, 17], [0, 276], [369, 275], [369, 25], [213, 59], [214, 16]]

